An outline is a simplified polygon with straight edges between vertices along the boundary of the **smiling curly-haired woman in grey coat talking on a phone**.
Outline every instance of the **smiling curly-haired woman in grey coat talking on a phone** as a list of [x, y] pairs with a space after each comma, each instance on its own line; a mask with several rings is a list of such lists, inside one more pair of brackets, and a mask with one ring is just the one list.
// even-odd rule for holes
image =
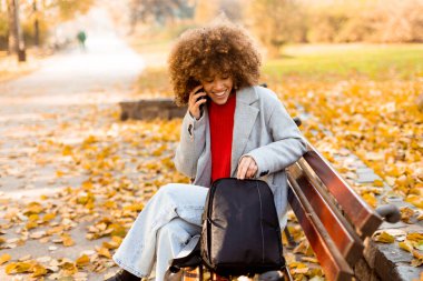
[[168, 62], [176, 102], [188, 104], [175, 165], [193, 184], [167, 184], [151, 198], [114, 255], [122, 270], [110, 281], [148, 277], [154, 264], [164, 280], [169, 261], [200, 232], [207, 188], [219, 178], [267, 181], [284, 228], [285, 168], [306, 149], [275, 93], [255, 86], [260, 59], [242, 28], [189, 30]]

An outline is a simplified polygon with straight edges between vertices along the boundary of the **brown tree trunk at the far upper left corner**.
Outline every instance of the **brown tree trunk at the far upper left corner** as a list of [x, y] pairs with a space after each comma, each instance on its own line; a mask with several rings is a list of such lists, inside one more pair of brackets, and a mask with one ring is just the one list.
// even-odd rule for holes
[[16, 53], [18, 61], [26, 61], [27, 56], [19, 22], [19, 2], [18, 0], [7, 0], [6, 2], [9, 17], [9, 53]]

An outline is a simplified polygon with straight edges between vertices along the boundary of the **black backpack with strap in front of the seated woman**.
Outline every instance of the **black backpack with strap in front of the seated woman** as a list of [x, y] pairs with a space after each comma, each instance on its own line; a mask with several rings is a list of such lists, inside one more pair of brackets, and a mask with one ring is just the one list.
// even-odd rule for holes
[[205, 264], [222, 277], [283, 270], [285, 259], [273, 192], [265, 181], [225, 178], [208, 191], [201, 235], [169, 270]]

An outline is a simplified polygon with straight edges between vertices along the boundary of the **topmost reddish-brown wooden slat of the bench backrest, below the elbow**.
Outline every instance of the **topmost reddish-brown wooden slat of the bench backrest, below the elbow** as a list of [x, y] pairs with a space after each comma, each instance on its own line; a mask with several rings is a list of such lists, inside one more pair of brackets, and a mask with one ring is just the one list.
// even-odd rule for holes
[[358, 234], [362, 237], [372, 235], [382, 223], [381, 217], [355, 193], [309, 143], [308, 151], [304, 154], [304, 159], [340, 203], [343, 211], [356, 227]]

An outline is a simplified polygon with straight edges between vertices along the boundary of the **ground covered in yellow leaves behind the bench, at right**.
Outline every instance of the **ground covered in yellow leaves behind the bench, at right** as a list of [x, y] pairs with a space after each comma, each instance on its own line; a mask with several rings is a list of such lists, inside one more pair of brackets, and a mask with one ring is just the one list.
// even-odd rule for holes
[[[275, 89], [292, 112], [312, 114], [304, 121], [304, 134], [370, 205], [376, 208], [402, 198], [414, 207], [401, 208], [402, 221], [422, 227], [423, 111], [417, 104], [422, 81], [357, 79], [322, 83], [288, 79], [278, 83], [276, 79]], [[348, 153], [357, 155], [382, 180], [358, 183], [357, 165], [348, 161]], [[411, 264], [421, 267], [421, 230], [377, 232], [374, 241], [396, 242], [410, 252]]]

